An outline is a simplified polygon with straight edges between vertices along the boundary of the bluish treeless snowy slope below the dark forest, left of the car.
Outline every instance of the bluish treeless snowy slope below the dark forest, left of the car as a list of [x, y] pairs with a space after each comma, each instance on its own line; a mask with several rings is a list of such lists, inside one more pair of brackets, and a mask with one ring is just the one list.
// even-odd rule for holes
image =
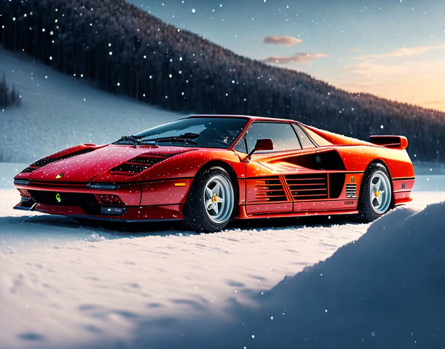
[[184, 116], [91, 86], [0, 48], [0, 72], [22, 96], [0, 109], [0, 161], [32, 162], [66, 147], [109, 143]]

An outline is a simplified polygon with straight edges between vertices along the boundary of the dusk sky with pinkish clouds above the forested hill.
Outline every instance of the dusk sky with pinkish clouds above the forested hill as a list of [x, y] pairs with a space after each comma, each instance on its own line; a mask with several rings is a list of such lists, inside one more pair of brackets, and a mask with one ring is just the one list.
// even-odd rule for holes
[[129, 2], [242, 56], [445, 111], [445, 1]]

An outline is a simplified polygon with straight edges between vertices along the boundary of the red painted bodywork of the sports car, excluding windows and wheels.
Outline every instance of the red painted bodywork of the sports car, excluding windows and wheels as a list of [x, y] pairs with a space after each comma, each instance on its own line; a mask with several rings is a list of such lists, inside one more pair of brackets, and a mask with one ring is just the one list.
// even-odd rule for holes
[[[354, 214], [362, 177], [378, 161], [390, 174], [393, 204], [411, 200], [414, 170], [403, 146], [380, 146], [288, 119], [242, 117], [249, 121], [228, 149], [85, 144], [39, 160], [16, 175], [14, 185], [40, 212], [101, 220], [181, 220], [195, 175], [204, 166], [220, 164], [235, 186], [234, 218]], [[254, 153], [244, 162], [247, 154], [234, 147], [251, 123], [261, 120], [297, 123], [318, 146]], [[144, 159], [159, 162], [137, 174], [126, 170]], [[315, 186], [304, 189], [308, 182]], [[103, 206], [125, 212], [104, 214], [98, 211]], [[15, 208], [30, 207], [20, 202]]]

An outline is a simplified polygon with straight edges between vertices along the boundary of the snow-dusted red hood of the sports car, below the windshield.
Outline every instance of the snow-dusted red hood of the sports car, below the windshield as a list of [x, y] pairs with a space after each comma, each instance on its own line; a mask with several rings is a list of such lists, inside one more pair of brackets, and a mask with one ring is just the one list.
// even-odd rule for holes
[[[71, 149], [71, 148], [70, 148]], [[139, 173], [130, 173], [119, 170], [119, 166], [132, 164], [130, 160], [145, 156], [157, 157], [162, 161], [171, 156], [184, 153], [193, 149], [184, 147], [162, 147], [162, 146], [138, 146], [110, 144], [106, 146], [84, 147], [87, 152], [71, 155], [69, 157], [57, 158], [50, 156], [53, 161], [47, 165], [36, 168], [30, 172], [20, 173], [15, 179], [29, 179], [39, 181], [58, 181], [58, 182], [88, 182], [98, 180], [106, 181], [137, 181]], [[48, 159], [48, 158], [45, 158]], [[45, 160], [42, 159], [42, 160]], [[36, 162], [34, 164], [37, 164]], [[33, 164], [33, 165], [34, 165]], [[31, 166], [33, 166], [31, 165]], [[129, 166], [129, 165], [127, 165]], [[130, 165], [131, 166], [131, 165]], [[136, 165], [139, 166], [139, 165]], [[30, 169], [30, 168], [28, 168]], [[111, 171], [110, 171], [111, 170]]]

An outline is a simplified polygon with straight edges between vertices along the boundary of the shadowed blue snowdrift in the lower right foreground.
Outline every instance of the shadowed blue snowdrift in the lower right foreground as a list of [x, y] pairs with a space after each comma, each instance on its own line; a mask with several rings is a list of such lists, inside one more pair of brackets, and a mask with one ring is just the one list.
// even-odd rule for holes
[[233, 303], [230, 321], [176, 324], [137, 347], [444, 348], [444, 212], [445, 202], [396, 209], [326, 261], [254, 296], [255, 306]]

